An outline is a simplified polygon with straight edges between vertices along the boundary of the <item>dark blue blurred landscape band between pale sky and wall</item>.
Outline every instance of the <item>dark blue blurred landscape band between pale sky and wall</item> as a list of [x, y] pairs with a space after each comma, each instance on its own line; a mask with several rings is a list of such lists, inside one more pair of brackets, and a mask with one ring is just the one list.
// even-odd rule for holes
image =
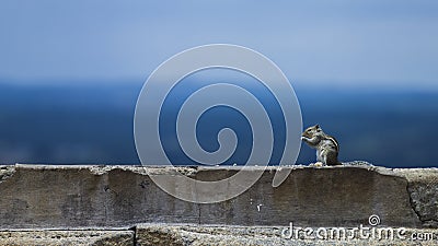
[[[0, 163], [140, 163], [132, 128], [142, 82], [34, 84], [0, 83]], [[336, 137], [341, 161], [437, 165], [438, 92], [326, 84], [295, 90], [303, 127], [320, 124]], [[314, 150], [302, 145], [297, 163], [314, 159]]]

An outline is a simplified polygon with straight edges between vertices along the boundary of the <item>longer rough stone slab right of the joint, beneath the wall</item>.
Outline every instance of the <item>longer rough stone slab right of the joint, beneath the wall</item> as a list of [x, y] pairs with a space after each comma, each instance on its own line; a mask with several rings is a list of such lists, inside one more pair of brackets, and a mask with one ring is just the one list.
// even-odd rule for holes
[[[392, 229], [392, 237], [389, 230], [376, 227], [374, 235], [364, 231], [362, 236], [348, 231], [344, 234], [332, 233], [332, 227], [312, 227], [313, 234], [304, 235], [300, 232], [298, 236], [289, 235], [288, 226], [218, 226], [218, 225], [157, 225], [140, 224], [136, 229], [137, 245], [171, 245], [171, 246], [200, 246], [200, 245], [354, 245], [354, 246], [388, 246], [388, 245], [437, 245], [438, 230], [436, 229], [401, 229], [403, 234], [397, 233], [397, 227]], [[322, 238], [316, 236], [318, 231]], [[343, 230], [343, 229], [339, 229]], [[348, 229], [345, 229], [348, 230]], [[380, 233], [380, 234], [379, 234]], [[326, 236], [326, 237], [324, 237]], [[350, 236], [350, 237], [348, 237]], [[368, 237], [368, 238], [367, 238]]]

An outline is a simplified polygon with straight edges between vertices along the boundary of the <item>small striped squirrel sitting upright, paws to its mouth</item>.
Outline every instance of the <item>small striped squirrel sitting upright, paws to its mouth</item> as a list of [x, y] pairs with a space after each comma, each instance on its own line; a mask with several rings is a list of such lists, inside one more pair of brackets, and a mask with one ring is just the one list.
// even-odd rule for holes
[[342, 165], [337, 161], [339, 144], [335, 138], [322, 131], [320, 125], [309, 127], [302, 132], [301, 140], [309, 147], [316, 149], [315, 166]]

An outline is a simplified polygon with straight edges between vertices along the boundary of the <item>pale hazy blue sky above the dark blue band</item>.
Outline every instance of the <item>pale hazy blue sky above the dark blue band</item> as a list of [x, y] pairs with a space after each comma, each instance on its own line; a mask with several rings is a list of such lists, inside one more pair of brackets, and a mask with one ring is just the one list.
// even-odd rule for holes
[[255, 49], [298, 83], [438, 87], [438, 1], [2, 0], [0, 79], [139, 81], [184, 49]]

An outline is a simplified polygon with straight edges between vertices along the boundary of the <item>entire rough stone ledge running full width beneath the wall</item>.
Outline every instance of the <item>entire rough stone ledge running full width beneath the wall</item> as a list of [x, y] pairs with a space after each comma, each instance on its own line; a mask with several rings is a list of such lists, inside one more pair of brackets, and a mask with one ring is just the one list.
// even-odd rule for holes
[[[298, 225], [296, 225], [298, 226]], [[196, 224], [139, 224], [132, 229], [104, 230], [15, 230], [0, 231], [0, 245], [100, 245], [100, 246], [200, 246], [200, 245], [357, 245], [357, 246], [387, 246], [387, 245], [436, 245], [437, 229], [392, 229], [391, 237], [388, 231], [379, 234], [351, 231], [337, 234], [333, 227], [312, 227], [313, 234], [301, 231], [299, 234], [289, 234], [290, 226], [227, 226], [227, 225], [196, 225]], [[308, 229], [307, 229], [308, 230]], [[344, 229], [338, 229], [344, 230]], [[345, 230], [351, 230], [345, 227]], [[388, 230], [388, 229], [384, 229]], [[315, 233], [321, 231], [319, 235]], [[327, 232], [324, 234], [324, 232]], [[334, 232], [334, 233], [332, 233]], [[403, 235], [403, 237], [400, 237]], [[319, 238], [321, 237], [322, 238]]]

